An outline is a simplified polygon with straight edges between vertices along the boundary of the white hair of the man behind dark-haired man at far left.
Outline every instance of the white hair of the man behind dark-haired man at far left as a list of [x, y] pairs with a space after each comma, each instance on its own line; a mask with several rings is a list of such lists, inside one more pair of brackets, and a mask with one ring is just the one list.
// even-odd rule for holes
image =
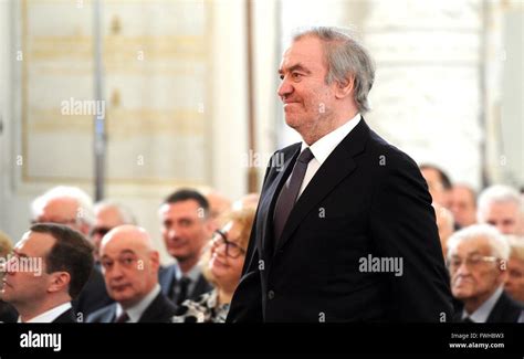
[[77, 215], [76, 218], [80, 218], [80, 220], [88, 226], [92, 226], [94, 224], [95, 215], [93, 212], [93, 200], [86, 192], [84, 192], [80, 188], [71, 186], [53, 187], [42, 196], [34, 199], [31, 203], [32, 220], [38, 219], [38, 217], [40, 215], [43, 208], [49, 201], [57, 198], [71, 198], [75, 200], [78, 204], [78, 210], [82, 213], [82, 215]]

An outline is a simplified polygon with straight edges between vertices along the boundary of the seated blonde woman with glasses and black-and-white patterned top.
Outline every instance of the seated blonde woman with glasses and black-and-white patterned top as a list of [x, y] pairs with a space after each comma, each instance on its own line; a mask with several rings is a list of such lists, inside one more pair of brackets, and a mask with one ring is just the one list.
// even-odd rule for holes
[[253, 219], [254, 209], [232, 211], [224, 217], [226, 225], [214, 232], [200, 260], [202, 274], [214, 289], [197, 300], [184, 302], [172, 317], [174, 323], [226, 321], [242, 274]]

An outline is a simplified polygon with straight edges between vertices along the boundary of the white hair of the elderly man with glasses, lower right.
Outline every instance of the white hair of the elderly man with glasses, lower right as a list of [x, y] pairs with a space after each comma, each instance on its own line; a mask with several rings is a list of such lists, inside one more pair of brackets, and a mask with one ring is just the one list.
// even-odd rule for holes
[[492, 255], [504, 261], [510, 258], [510, 244], [507, 244], [506, 239], [490, 224], [473, 224], [453, 233], [448, 241], [448, 258], [451, 257], [451, 253], [457, 250], [460, 243], [479, 237], [483, 237], [488, 241]]

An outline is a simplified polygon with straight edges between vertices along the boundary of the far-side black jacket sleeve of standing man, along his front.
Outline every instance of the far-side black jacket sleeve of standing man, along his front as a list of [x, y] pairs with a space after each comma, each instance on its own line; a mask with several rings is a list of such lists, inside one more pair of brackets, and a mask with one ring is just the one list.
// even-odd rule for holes
[[[276, 154], [276, 152], [275, 152]], [[268, 163], [264, 175], [264, 182], [262, 191], [271, 172], [271, 163], [273, 156]], [[260, 207], [256, 209], [256, 214], [251, 229], [251, 235], [245, 253], [245, 262], [242, 270], [242, 278], [234, 292], [231, 307], [229, 309], [227, 323], [260, 323], [263, 320], [262, 316], [262, 285], [260, 278], [259, 261], [260, 255], [256, 250], [256, 221], [259, 218]]]

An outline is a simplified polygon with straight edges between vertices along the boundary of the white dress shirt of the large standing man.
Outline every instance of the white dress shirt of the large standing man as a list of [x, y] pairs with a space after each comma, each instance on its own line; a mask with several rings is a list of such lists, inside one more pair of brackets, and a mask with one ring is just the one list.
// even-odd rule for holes
[[[301, 197], [304, 189], [307, 187], [310, 181], [312, 180], [313, 176], [315, 176], [318, 168], [321, 168], [322, 163], [329, 157], [333, 150], [342, 142], [342, 140], [358, 125], [360, 122], [360, 114], [357, 114], [355, 117], [349, 119], [347, 123], [338, 127], [337, 129], [331, 131], [329, 134], [325, 135], [316, 142], [311, 146], [307, 146], [306, 142], [302, 141], [301, 152], [306, 148], [310, 147], [314, 158], [307, 165], [307, 170], [304, 176], [304, 180], [302, 181], [301, 190], [298, 191], [298, 197]], [[291, 176], [287, 181], [291, 180]]]

